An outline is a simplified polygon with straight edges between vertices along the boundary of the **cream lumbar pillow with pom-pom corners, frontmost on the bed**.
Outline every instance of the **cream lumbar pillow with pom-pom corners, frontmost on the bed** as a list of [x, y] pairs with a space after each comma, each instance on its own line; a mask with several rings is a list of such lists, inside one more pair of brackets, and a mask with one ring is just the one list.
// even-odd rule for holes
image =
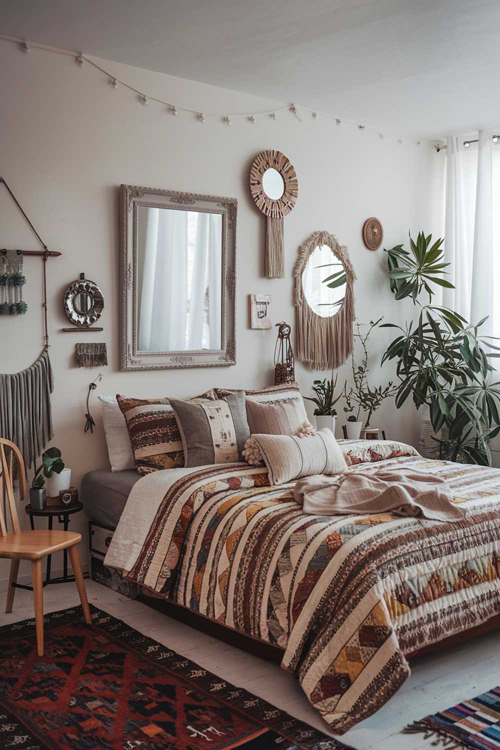
[[252, 435], [245, 444], [245, 460], [254, 463], [258, 452], [271, 484], [286, 484], [315, 474], [340, 474], [347, 469], [340, 446], [328, 428], [307, 437]]

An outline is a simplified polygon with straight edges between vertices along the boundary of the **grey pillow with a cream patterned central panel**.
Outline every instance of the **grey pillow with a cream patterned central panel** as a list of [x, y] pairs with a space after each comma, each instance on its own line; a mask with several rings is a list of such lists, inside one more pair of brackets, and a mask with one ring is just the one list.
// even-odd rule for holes
[[242, 461], [250, 437], [243, 391], [217, 401], [193, 404], [172, 399], [185, 466]]

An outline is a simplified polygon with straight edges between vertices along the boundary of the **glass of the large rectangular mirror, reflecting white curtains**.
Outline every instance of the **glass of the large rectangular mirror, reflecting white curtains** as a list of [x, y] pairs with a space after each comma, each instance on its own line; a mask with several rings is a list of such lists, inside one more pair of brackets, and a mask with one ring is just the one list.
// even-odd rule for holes
[[139, 350], [220, 349], [220, 214], [148, 207], [140, 229]]

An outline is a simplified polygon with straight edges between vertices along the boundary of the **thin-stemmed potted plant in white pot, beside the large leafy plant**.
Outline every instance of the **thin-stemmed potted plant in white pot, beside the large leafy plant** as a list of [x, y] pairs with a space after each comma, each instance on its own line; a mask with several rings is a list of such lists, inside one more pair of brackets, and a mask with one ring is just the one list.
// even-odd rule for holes
[[364, 332], [364, 323], [356, 321], [356, 332], [355, 338], [358, 339], [363, 348], [363, 357], [361, 359], [361, 365], [356, 365], [354, 359], [354, 353], [352, 353], [352, 378], [354, 380], [354, 386], [347, 391], [347, 383], [344, 386], [344, 397], [346, 398], [346, 407], [344, 411], [346, 413], [353, 412], [357, 407], [356, 415], [352, 414], [347, 418], [347, 437], [349, 440], [358, 440], [361, 435], [361, 429], [363, 428], [363, 422], [360, 420], [361, 412], [367, 413], [367, 421], [365, 428], [370, 427], [370, 419], [372, 419], [373, 413], [379, 409], [382, 401], [386, 398], [391, 398], [397, 392], [397, 387], [393, 386], [392, 381], [389, 381], [388, 385], [383, 388], [372, 388], [368, 383], [368, 348], [367, 341], [370, 338], [370, 334], [373, 329], [379, 325], [383, 318], [373, 321], [370, 320], [370, 324], [367, 332]]

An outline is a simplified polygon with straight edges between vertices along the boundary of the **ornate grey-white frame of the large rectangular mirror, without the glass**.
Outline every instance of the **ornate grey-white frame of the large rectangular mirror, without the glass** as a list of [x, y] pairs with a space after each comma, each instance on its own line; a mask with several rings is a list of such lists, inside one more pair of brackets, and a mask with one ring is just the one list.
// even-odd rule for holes
[[[238, 200], [121, 185], [120, 370], [227, 367], [236, 364], [236, 221]], [[143, 352], [137, 347], [137, 209], [184, 208], [222, 215], [222, 332], [219, 350]]]

